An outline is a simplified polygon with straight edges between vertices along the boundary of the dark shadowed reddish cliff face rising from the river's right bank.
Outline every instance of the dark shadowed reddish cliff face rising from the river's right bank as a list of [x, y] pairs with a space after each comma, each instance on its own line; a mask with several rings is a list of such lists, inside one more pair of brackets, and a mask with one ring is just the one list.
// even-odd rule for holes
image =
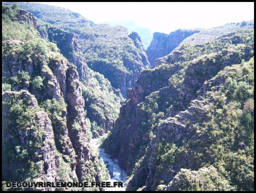
[[[150, 103], [151, 97], [159, 98], [161, 94], [170, 92], [163, 89], [154, 93], [154, 91], [168, 86], [168, 75], [171, 70], [166, 66], [165, 71], [159, 71], [159, 69], [143, 71], [136, 82], [135, 88], [128, 91], [128, 98], [120, 109], [119, 119], [107, 140], [105, 151], [114, 157], [118, 157], [119, 165], [126, 168], [128, 172], [131, 172], [134, 167], [134, 157], [137, 157], [140, 147], [150, 141], [148, 137], [149, 130], [145, 127], [151, 127], [162, 116], [156, 107], [154, 109], [154, 113], [156, 113], [154, 120], [147, 120], [147, 117], [153, 113], [149, 111], [149, 108], [154, 106], [154, 103], [149, 106], [145, 105]], [[158, 81], [150, 78], [159, 76], [162, 79]], [[154, 94], [150, 95], [150, 93]], [[144, 121], [148, 123], [146, 124]]]

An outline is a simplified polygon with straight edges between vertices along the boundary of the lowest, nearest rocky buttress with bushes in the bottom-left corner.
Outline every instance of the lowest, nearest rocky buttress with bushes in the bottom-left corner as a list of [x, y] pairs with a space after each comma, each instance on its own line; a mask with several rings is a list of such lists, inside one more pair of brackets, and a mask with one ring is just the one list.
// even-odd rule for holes
[[52, 123], [38, 106], [36, 98], [25, 90], [6, 91], [2, 93], [2, 103], [4, 179], [58, 179], [60, 156], [55, 147]]

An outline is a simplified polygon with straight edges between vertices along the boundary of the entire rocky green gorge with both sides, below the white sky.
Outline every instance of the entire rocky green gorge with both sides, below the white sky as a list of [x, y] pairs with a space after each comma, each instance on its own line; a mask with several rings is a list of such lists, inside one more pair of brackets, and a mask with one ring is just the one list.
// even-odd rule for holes
[[2, 190], [253, 191], [254, 20], [144, 48], [121, 25], [2, 3]]

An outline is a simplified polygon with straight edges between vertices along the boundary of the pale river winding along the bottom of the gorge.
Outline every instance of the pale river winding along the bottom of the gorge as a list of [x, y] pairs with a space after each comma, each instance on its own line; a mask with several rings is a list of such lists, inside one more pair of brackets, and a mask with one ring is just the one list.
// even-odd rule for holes
[[95, 138], [90, 141], [90, 147], [95, 151], [99, 152], [99, 157], [104, 160], [104, 163], [107, 163], [107, 168], [109, 170], [110, 179], [108, 181], [111, 182], [111, 186], [113, 186], [114, 181], [123, 182], [123, 188], [106, 188], [106, 191], [125, 191], [126, 184], [125, 181], [127, 179], [127, 172], [122, 169], [118, 165], [118, 160], [112, 159], [110, 155], [105, 153], [103, 148], [100, 148], [99, 141], [103, 136], [100, 138]]

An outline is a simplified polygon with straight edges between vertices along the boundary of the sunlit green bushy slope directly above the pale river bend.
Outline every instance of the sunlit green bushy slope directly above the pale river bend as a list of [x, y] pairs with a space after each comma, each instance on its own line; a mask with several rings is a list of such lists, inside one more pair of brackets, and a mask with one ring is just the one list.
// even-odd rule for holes
[[89, 81], [82, 86], [82, 96], [85, 99], [89, 127], [93, 136], [98, 137], [113, 127], [119, 115], [120, 103], [124, 99], [103, 75], [91, 69], [89, 75]]

